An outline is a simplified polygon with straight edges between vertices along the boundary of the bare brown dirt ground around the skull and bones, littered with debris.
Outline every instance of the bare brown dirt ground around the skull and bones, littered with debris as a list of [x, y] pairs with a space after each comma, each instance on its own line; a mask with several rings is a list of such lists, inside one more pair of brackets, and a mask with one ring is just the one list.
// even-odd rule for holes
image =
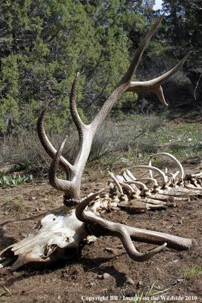
[[[159, 168], [171, 167], [170, 162], [157, 164]], [[202, 161], [192, 158], [183, 166], [185, 172], [195, 172], [202, 170]], [[118, 172], [118, 169], [120, 171], [120, 167], [114, 170]], [[87, 167], [82, 180], [83, 197], [107, 187], [109, 180], [109, 176], [93, 179], [90, 171]], [[34, 178], [30, 184], [1, 188], [0, 197], [0, 223], [5, 225], [0, 250], [26, 237], [47, 210], [59, 210], [63, 205], [62, 192], [54, 190], [47, 178]], [[82, 241], [79, 254], [70, 260], [61, 260], [46, 268], [25, 266], [13, 273], [9, 267], [1, 269], [0, 302], [124, 302], [124, 297], [133, 301], [135, 294], [143, 291], [144, 296], [155, 281], [153, 293], [168, 290], [154, 295], [159, 299], [150, 296], [150, 302], [202, 302], [202, 274], [185, 279], [182, 270], [188, 272], [196, 265], [202, 267], [201, 199], [191, 197], [190, 202], [180, 201], [176, 207], [158, 211], [119, 210], [105, 214], [104, 218], [190, 238], [193, 245], [188, 251], [165, 248], [152, 259], [138, 263], [130, 259], [115, 237], [99, 237], [90, 243]], [[135, 247], [145, 252], [155, 245], [136, 242]], [[106, 279], [100, 279], [103, 273], [109, 274]], [[142, 297], [141, 302], [144, 301], [148, 300]]]

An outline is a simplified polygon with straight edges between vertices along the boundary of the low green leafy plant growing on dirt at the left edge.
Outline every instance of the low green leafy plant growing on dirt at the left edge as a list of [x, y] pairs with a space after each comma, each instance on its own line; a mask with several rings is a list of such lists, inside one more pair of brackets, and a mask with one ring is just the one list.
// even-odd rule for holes
[[[8, 175], [5, 176], [6, 174], [6, 169], [3, 171], [2, 174], [0, 174], [0, 185], [6, 187], [6, 186], [10, 186], [10, 187], [14, 187], [17, 186], [21, 183], [25, 183], [25, 182], [31, 182], [33, 179], [33, 175], [29, 175], [29, 176], [24, 176], [21, 178], [21, 176], [18, 174], [13, 174], [13, 175]], [[2, 179], [2, 180], [1, 180]]]

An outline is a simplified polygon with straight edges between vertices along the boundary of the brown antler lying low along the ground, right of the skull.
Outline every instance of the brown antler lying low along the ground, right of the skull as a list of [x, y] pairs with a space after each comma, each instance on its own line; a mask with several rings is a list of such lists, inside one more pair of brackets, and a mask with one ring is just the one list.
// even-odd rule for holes
[[[90, 232], [92, 232], [92, 234], [96, 236], [118, 237], [121, 240], [123, 247], [127, 251], [127, 254], [133, 260], [138, 262], [143, 262], [152, 258], [156, 254], [160, 253], [160, 251], [163, 250], [166, 246], [179, 250], [185, 250], [191, 246], [192, 241], [190, 239], [133, 228], [127, 225], [110, 222], [103, 218], [97, 217], [92, 212], [85, 212], [84, 210], [90, 201], [92, 201], [98, 194], [102, 193], [103, 190], [104, 189], [84, 199], [75, 210], [75, 215], [77, 216], [78, 220], [88, 224], [88, 229]], [[135, 249], [132, 240], [157, 244], [161, 246], [149, 251], [149, 253], [140, 254]]]

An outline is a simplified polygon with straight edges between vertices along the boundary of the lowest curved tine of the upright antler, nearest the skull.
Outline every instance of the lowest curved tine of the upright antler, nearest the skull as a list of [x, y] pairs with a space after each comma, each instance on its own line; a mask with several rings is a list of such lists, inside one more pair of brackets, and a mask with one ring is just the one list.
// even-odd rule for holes
[[58, 169], [58, 164], [60, 162], [60, 157], [62, 154], [62, 150], [64, 148], [65, 142], [66, 142], [67, 136], [65, 136], [64, 140], [62, 141], [60, 147], [58, 148], [58, 151], [56, 152], [52, 163], [50, 164], [50, 168], [48, 171], [48, 179], [50, 182], [50, 185], [52, 185], [55, 189], [63, 191], [66, 193], [66, 198], [71, 199], [72, 201], [79, 201], [80, 196], [77, 196], [77, 187], [67, 180], [60, 180], [57, 178], [56, 172]]

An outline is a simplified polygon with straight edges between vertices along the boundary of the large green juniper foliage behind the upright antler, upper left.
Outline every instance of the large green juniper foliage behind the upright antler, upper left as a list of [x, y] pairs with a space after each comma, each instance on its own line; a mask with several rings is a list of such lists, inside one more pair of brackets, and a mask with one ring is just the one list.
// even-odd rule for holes
[[[71, 85], [78, 71], [77, 102], [87, 123], [86, 112], [81, 109], [93, 106], [96, 112], [119, 82], [139, 40], [157, 17], [150, 9], [153, 4], [154, 0], [144, 4], [142, 0], [4, 1], [0, 19], [0, 132], [35, 129], [41, 108], [53, 97], [57, 101], [45, 117], [45, 128], [64, 129], [70, 117]], [[135, 33], [139, 37], [136, 41]], [[158, 49], [154, 37], [146, 58]], [[136, 99], [137, 94], [126, 93], [115, 108]]]

